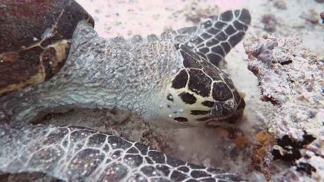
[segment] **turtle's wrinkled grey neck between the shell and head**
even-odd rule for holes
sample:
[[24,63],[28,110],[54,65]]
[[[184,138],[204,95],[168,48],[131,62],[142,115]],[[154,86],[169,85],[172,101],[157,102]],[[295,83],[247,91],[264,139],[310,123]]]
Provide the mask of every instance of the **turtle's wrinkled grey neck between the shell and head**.
[[154,119],[167,84],[181,68],[180,57],[171,41],[104,39],[80,22],[59,73],[42,84],[0,98],[0,120],[28,122],[44,110],[75,107],[117,107]]

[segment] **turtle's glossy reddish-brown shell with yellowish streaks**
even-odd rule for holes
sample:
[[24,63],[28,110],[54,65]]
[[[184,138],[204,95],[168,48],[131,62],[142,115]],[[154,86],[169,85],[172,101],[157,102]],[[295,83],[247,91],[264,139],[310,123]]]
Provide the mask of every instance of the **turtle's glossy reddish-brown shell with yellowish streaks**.
[[0,3],[0,97],[52,78],[64,65],[79,21],[94,27],[73,0]]

